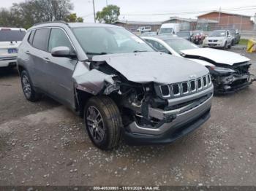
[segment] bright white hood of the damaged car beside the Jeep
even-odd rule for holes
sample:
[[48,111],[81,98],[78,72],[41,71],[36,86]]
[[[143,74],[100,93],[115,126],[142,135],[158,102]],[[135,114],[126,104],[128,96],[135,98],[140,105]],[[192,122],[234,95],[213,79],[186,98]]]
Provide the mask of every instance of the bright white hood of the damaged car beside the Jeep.
[[243,55],[225,50],[217,50],[213,48],[197,48],[191,50],[181,50],[185,55],[198,56],[207,58],[215,63],[223,63],[232,66],[234,63],[243,63],[249,61]]

